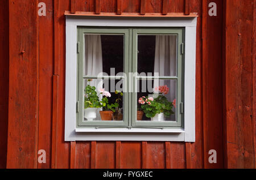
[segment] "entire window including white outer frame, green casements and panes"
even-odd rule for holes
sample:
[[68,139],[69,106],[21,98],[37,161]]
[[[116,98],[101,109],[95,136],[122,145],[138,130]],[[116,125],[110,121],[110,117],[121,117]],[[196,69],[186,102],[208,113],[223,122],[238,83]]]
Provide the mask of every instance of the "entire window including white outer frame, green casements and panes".
[[67,16],[65,140],[193,142],[196,18],[92,19]]

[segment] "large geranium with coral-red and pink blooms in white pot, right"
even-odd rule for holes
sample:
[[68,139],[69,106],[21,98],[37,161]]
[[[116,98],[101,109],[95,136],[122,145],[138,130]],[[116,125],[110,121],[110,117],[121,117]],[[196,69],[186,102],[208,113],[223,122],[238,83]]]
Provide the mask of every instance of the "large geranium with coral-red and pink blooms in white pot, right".
[[148,96],[139,98],[139,101],[144,102],[141,105],[143,112],[146,117],[151,118],[151,121],[164,121],[164,117],[170,117],[171,114],[174,114],[172,111],[173,102],[169,102],[164,96],[168,92],[167,85],[159,86],[155,88],[155,93],[159,93],[156,98]]

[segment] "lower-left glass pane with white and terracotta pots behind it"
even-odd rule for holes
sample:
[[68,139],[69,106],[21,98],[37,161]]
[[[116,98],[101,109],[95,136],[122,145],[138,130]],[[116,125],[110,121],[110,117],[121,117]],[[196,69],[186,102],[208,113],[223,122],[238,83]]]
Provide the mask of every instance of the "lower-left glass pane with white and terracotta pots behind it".
[[123,121],[122,82],[84,79],[84,121]]

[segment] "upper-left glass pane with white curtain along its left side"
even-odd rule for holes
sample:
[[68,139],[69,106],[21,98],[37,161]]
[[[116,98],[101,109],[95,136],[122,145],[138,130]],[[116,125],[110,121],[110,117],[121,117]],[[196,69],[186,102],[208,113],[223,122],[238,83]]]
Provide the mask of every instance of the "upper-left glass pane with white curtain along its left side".
[[85,35],[84,75],[123,72],[123,35]]

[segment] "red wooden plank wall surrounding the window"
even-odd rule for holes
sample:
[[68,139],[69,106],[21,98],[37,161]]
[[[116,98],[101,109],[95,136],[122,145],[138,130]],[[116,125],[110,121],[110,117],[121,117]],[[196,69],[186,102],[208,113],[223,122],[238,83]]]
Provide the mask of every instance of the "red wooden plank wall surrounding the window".
[[[38,2],[46,16],[38,16]],[[208,15],[210,2],[217,16]],[[64,142],[65,10],[198,13],[195,143]],[[255,0],[10,0],[7,168],[255,168],[254,13]],[[46,164],[37,162],[39,149]]]

